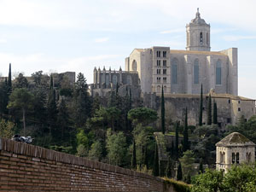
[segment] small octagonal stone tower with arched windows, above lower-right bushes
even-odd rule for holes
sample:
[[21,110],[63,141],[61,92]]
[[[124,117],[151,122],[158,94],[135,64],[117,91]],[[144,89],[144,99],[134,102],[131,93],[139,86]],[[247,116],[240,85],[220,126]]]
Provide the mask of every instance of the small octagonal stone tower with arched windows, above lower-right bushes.
[[216,169],[227,172],[232,165],[254,163],[255,144],[239,132],[216,143]]

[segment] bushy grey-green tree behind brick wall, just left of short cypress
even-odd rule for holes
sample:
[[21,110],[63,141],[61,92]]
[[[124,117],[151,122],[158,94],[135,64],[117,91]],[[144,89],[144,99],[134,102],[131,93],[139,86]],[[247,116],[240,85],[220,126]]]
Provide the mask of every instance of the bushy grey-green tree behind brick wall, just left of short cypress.
[[122,166],[125,164],[126,156],[126,138],[122,131],[114,133],[111,129],[107,131],[107,151],[108,162],[115,166]]

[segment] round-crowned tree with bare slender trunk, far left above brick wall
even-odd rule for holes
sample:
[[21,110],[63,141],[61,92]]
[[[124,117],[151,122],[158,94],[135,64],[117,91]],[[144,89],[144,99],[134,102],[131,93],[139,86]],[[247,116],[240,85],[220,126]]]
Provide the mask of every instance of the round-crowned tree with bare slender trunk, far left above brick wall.
[[22,111],[23,134],[26,136],[26,111],[32,108],[33,95],[25,88],[16,89],[9,96],[8,108],[17,108]]

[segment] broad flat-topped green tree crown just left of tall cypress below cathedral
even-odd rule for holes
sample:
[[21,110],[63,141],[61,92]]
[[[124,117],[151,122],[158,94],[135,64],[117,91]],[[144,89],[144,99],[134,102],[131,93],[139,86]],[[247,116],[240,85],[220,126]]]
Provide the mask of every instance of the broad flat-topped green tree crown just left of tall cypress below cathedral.
[[148,125],[157,118],[157,112],[150,108],[132,108],[128,113],[128,119],[132,120],[134,124]]

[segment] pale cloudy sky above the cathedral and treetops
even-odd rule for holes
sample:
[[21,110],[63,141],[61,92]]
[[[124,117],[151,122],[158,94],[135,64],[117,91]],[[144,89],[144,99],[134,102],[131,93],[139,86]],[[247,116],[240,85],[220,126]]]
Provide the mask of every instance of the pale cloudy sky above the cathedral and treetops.
[[255,0],[0,0],[0,73],[125,69],[135,48],[185,49],[185,26],[211,25],[212,50],[238,48],[239,95],[256,99]]

